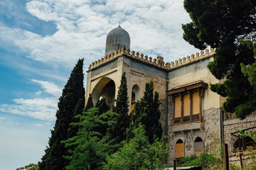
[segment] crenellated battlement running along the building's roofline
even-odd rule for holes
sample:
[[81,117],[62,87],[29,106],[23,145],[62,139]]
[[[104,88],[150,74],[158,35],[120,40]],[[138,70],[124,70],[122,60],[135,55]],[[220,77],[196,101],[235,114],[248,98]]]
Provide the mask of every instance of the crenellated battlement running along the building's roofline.
[[97,60],[95,62],[92,62],[90,64],[90,69],[95,69],[97,67],[100,67],[102,64],[105,64],[107,62],[111,62],[112,60],[117,59],[118,57],[121,57],[122,55],[125,55],[127,57],[131,57],[134,60],[139,60],[141,62],[144,62],[149,65],[153,65],[155,67],[159,67],[161,69],[171,70],[176,69],[178,67],[182,67],[187,64],[191,64],[193,62],[203,60],[205,58],[211,57],[215,54],[215,51],[213,48],[210,48],[210,51],[206,49],[205,51],[201,51],[200,54],[196,52],[196,55],[191,55],[187,57],[183,57],[183,59],[175,60],[175,62],[166,62],[164,63],[164,57],[158,56],[156,59],[152,59],[152,57],[148,57],[147,55],[139,55],[139,52],[130,51],[129,49],[125,49],[125,47],[122,47],[122,49],[119,49],[118,51],[112,52],[110,55],[106,55],[104,58],[101,58],[100,60]]

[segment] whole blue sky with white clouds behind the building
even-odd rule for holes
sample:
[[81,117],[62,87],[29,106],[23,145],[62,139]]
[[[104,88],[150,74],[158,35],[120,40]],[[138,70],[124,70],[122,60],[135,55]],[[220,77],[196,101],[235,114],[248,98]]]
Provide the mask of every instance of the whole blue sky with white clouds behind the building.
[[41,160],[73,67],[85,59],[86,85],[119,22],[140,54],[173,62],[199,52],[182,38],[191,19],[181,0],[0,1],[0,169]]

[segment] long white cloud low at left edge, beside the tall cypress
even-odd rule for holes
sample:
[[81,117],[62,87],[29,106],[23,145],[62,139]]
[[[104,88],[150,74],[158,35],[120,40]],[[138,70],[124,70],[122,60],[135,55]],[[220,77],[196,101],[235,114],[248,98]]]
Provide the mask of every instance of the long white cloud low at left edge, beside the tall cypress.
[[1,104],[0,111],[46,121],[55,120],[58,98],[17,98],[13,101],[15,104]]

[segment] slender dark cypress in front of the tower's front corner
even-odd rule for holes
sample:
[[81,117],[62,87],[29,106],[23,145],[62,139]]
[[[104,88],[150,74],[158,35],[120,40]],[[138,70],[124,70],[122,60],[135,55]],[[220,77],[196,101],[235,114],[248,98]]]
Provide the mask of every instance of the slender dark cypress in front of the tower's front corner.
[[113,111],[117,113],[117,116],[112,118],[117,123],[114,124],[109,130],[108,133],[111,139],[114,139],[116,144],[119,144],[127,138],[127,129],[129,128],[129,101],[127,94],[127,79],[125,77],[125,72],[122,74],[121,84],[118,88],[116,106]]

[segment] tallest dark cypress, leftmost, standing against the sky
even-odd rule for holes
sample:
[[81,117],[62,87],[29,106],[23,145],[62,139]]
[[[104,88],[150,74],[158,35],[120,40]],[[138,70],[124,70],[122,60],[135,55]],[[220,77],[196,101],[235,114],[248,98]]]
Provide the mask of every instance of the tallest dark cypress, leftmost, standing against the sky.
[[43,155],[42,161],[38,164],[39,169],[64,169],[69,164],[68,160],[63,157],[68,155],[68,149],[60,141],[67,140],[70,137],[68,134],[71,134],[69,129],[70,123],[75,117],[75,106],[80,98],[83,101],[85,100],[82,66],[83,59],[78,60],[63,89],[63,94],[59,98],[55,126],[51,130],[51,137],[48,141],[49,147],[46,148],[46,154]]

